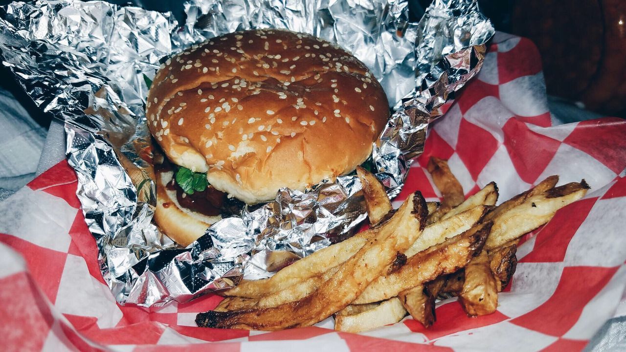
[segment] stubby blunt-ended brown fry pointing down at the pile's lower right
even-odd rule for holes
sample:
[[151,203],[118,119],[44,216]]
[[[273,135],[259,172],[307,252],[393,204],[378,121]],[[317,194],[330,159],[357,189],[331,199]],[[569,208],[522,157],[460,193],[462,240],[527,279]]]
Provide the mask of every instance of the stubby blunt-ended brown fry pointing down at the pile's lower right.
[[481,251],[465,267],[459,301],[468,316],[491,314],[498,308],[498,288],[486,250]]

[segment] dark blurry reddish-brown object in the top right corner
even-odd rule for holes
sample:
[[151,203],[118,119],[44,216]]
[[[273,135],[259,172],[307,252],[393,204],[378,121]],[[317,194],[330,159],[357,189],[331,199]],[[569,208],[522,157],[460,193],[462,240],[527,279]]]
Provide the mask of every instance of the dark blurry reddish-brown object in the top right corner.
[[510,32],[538,46],[548,94],[626,115],[626,1],[517,0]]

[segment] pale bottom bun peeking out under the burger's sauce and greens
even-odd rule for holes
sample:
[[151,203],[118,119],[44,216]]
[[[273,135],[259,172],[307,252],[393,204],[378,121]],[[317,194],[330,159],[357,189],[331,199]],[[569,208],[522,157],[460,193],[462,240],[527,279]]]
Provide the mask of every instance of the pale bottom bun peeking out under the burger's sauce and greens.
[[[208,216],[183,208],[178,203],[176,191],[165,187],[172,182],[174,172],[156,172],[156,225],[174,242],[187,247],[204,234],[207,228],[222,219],[220,215]],[[165,206],[163,204],[166,204]]]

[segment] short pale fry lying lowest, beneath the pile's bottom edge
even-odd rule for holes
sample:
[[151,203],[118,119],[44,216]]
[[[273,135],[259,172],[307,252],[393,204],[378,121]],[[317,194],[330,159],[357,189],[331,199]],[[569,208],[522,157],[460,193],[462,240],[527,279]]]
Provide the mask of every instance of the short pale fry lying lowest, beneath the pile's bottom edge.
[[335,316],[335,330],[348,333],[360,333],[394,324],[406,316],[406,309],[397,297],[376,304],[375,308],[357,314]]

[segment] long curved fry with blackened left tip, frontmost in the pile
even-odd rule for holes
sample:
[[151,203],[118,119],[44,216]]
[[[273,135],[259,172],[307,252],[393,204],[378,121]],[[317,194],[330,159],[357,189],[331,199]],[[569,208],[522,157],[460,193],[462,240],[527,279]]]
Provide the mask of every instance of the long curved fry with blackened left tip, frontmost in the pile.
[[198,326],[277,330],[310,326],[345,308],[417,239],[426,223],[426,202],[416,192],[404,201],[377,236],[309,296],[273,308],[200,313]]

